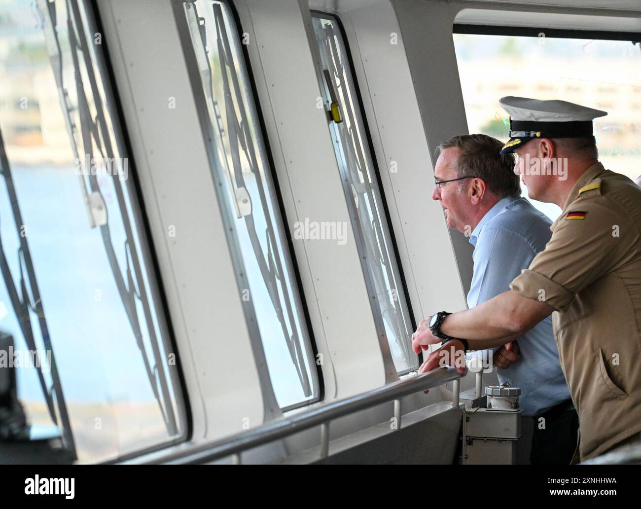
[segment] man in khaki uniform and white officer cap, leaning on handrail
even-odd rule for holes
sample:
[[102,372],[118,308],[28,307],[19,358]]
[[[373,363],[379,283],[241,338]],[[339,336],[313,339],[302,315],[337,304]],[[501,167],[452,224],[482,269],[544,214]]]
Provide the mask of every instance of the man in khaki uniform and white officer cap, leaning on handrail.
[[[510,291],[422,321],[413,347],[443,339],[442,349],[452,354],[499,346],[554,312],[561,365],[579,414],[578,453],[594,458],[638,441],[641,432],[641,189],[597,161],[592,119],[604,112],[522,97],[501,104],[511,114],[503,151],[519,156],[515,171],[529,197],[557,203],[562,213],[545,250]],[[565,169],[557,160],[556,174],[528,172],[535,160],[541,171],[554,169],[553,158],[567,158]],[[441,358],[432,353],[422,371]]]

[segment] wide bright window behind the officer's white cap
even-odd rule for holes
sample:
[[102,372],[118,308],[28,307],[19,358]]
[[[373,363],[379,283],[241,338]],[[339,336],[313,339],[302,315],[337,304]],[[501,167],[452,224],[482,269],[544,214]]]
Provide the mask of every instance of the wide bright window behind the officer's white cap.
[[[603,165],[633,180],[641,175],[641,105],[637,100],[641,47],[631,42],[632,36],[604,40],[597,38],[598,33],[577,35],[575,31],[570,38],[563,31],[525,29],[523,36],[515,37],[501,35],[501,28],[492,34],[469,33],[475,30],[454,26],[455,32],[465,32],[454,33],[454,46],[470,133],[507,140],[509,119],[499,106],[502,96],[583,104],[608,112],[594,121]],[[634,40],[638,39],[637,34]],[[481,89],[479,83],[485,86]],[[533,204],[551,219],[561,212],[554,204]]]

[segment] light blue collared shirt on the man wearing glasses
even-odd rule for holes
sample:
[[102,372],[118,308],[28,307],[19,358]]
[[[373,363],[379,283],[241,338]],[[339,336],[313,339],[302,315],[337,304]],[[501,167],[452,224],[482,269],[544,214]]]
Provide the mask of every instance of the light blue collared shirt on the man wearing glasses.
[[[467,305],[472,308],[509,290],[512,280],[545,249],[552,235],[551,224],[522,197],[503,198],[490,208],[470,235],[474,276]],[[554,341],[552,318],[539,322],[517,341],[521,358],[508,368],[499,369],[498,376],[499,381],[521,388],[519,402],[523,415],[539,415],[570,399]]]

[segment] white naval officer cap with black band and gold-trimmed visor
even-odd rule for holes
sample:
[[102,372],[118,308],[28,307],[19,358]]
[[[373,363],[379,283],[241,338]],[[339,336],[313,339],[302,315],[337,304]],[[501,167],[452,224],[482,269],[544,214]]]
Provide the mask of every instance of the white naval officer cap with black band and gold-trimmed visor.
[[501,97],[499,104],[510,115],[510,139],[501,149],[509,154],[535,138],[592,136],[592,119],[607,112],[567,101],[540,101],[528,97]]

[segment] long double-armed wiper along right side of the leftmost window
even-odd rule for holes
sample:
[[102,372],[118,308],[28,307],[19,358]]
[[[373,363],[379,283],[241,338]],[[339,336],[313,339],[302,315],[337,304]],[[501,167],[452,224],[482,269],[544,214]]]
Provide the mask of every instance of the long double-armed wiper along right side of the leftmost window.
[[[72,106],[69,104],[69,94],[63,83],[62,72],[62,51],[60,46],[60,38],[58,30],[56,29],[56,6],[54,1],[38,0],[43,9],[47,12],[47,19],[44,20],[44,31],[47,39],[47,46],[49,47],[49,56],[54,71],[54,78],[58,86],[58,93],[60,95],[60,103],[62,105],[62,112],[67,124],[67,131],[71,140],[73,155],[76,161],[83,159],[79,158],[78,145],[76,144],[76,124],[72,118]],[[75,27],[75,28],[74,28]],[[80,120],[80,134],[82,139],[82,146],[84,149],[84,158],[92,160],[94,154],[93,144],[96,144],[97,151],[106,160],[115,162],[117,159],[114,157],[112,147],[112,140],[110,138],[108,122],[106,115],[103,111],[103,101],[99,92],[96,81],[96,76],[92,72],[94,66],[92,65],[91,56],[89,54],[87,36],[82,22],[82,17],[79,11],[77,0],[67,1],[67,29],[69,35],[69,45],[71,46],[71,56],[74,65],[74,76],[76,81],[76,96],[78,97],[78,115]],[[78,36],[76,37],[76,31]],[[92,118],[90,104],[85,94],[85,83],[83,82],[83,75],[80,69],[80,61],[78,52],[82,54],[83,63],[87,70],[87,77],[91,89],[91,95],[94,99],[93,104],[96,109],[96,118]],[[85,161],[86,162],[86,161]],[[82,172],[81,172],[82,173]],[[87,192],[87,185],[85,177],[80,175],[81,187],[83,187],[83,195],[85,196],[85,203],[87,204],[88,213],[90,216],[90,226],[92,228],[99,226],[103,238],[104,249],[108,258],[109,265],[112,269],[113,278],[118,288],[121,297],[122,305],[127,314],[131,330],[136,338],[140,355],[144,363],[144,368],[149,378],[151,389],[153,390],[154,397],[158,401],[160,413],[162,415],[167,431],[170,435],[178,433],[178,426],[176,424],[176,416],[174,415],[174,408],[172,404],[171,391],[165,377],[163,370],[163,355],[158,347],[158,340],[156,338],[153,313],[149,306],[147,299],[147,291],[144,285],[144,274],[140,260],[138,260],[138,252],[136,249],[133,228],[129,219],[128,204],[124,195],[124,190],[119,184],[119,176],[112,172],[113,188],[119,206],[119,212],[122,217],[122,224],[125,229],[125,242],[124,242],[124,256],[126,259],[126,278],[122,275],[121,267],[118,262],[115,249],[113,247],[110,227],[106,221],[106,205],[98,184],[97,176],[88,174],[87,180],[89,183],[90,193]],[[101,213],[101,210],[103,211]],[[140,319],[138,317],[136,301],[140,301],[144,319],[146,321],[146,328],[149,334],[149,343],[153,352],[153,365],[151,364],[144,344],[144,338],[140,329]]]

